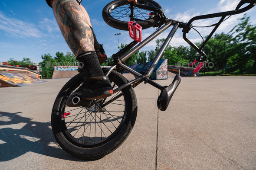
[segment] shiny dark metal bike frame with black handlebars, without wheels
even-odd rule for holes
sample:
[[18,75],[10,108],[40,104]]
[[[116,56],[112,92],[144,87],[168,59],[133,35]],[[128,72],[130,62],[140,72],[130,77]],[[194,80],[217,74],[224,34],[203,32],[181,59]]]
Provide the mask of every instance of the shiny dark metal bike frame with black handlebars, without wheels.
[[[243,1],[243,0],[242,0]],[[241,1],[241,2],[242,2]],[[113,61],[114,64],[111,68],[109,68],[109,70],[107,71],[107,73],[105,74],[105,76],[108,76],[110,74],[110,72],[115,69],[115,68],[122,68],[125,71],[128,71],[129,73],[133,74],[134,76],[138,77],[135,78],[134,80],[129,81],[128,83],[118,87],[117,89],[115,89],[113,91],[113,93],[117,93],[119,90],[128,87],[130,85],[133,85],[133,87],[138,86],[138,84],[140,84],[142,81],[144,81],[144,83],[149,83],[152,86],[158,88],[159,90],[163,89],[163,86],[161,86],[160,84],[154,82],[153,80],[150,80],[149,77],[152,74],[154,68],[156,67],[158,61],[160,60],[161,56],[164,53],[164,50],[167,48],[167,46],[169,45],[172,37],[174,36],[175,32],[177,31],[178,28],[183,28],[182,32],[183,33],[183,38],[184,40],[192,47],[194,48],[199,54],[200,56],[203,57],[203,60],[201,60],[200,62],[206,62],[207,58],[205,53],[202,51],[202,48],[204,47],[204,45],[208,42],[208,40],[210,39],[210,37],[213,35],[213,33],[216,31],[216,29],[218,28],[218,26],[220,26],[220,23],[223,22],[223,20],[225,19],[226,16],[230,16],[230,15],[234,15],[234,14],[239,14],[239,13],[243,13],[249,9],[251,9],[254,6],[253,3],[250,3],[248,6],[244,7],[243,9],[240,10],[234,10],[234,11],[228,11],[228,12],[222,12],[222,13],[214,13],[214,14],[208,14],[208,15],[203,15],[203,16],[196,16],[192,19],[190,19],[190,21],[188,23],[184,23],[184,22],[180,22],[180,21],[176,21],[176,20],[172,20],[172,19],[166,19],[165,20],[165,25],[162,26],[161,28],[159,28],[156,32],[154,32],[153,34],[151,34],[148,38],[144,39],[140,44],[138,44],[137,46],[135,46],[137,44],[137,42],[131,42],[129,45],[127,45],[125,48],[123,48],[121,51],[119,51],[118,53],[116,53],[115,55],[113,55]],[[147,6],[144,7],[144,9],[146,9]],[[158,12],[158,11],[157,11]],[[208,18],[214,18],[214,17],[221,17],[220,21],[217,24],[213,24],[212,26],[215,26],[214,29],[212,30],[212,32],[210,33],[210,35],[207,37],[207,39],[203,42],[203,44],[201,45],[200,48],[198,48],[193,42],[190,42],[190,40],[186,37],[186,34],[190,31],[190,29],[192,28],[192,22],[194,20],[198,20],[198,19],[208,19]],[[130,67],[126,66],[125,64],[122,64],[125,60],[127,60],[129,57],[131,57],[131,55],[135,54],[135,52],[137,52],[139,49],[141,49],[142,47],[144,47],[146,44],[148,44],[149,42],[151,42],[151,40],[153,40],[155,37],[157,37],[158,35],[160,35],[162,32],[164,32],[167,28],[169,28],[170,26],[173,26],[173,28],[171,29],[171,32],[169,33],[169,35],[167,36],[166,40],[164,41],[163,45],[161,46],[160,50],[158,51],[157,55],[154,57],[151,65],[149,66],[148,70],[145,72],[144,75],[138,73],[137,71],[131,69]],[[135,47],[134,47],[135,46]],[[134,47],[134,48],[132,48]],[[132,49],[131,49],[132,48]],[[130,50],[131,49],[131,50]],[[130,51],[129,51],[130,50]],[[119,58],[119,56],[121,56]],[[117,96],[118,98],[118,96]],[[115,98],[114,98],[115,99]]]

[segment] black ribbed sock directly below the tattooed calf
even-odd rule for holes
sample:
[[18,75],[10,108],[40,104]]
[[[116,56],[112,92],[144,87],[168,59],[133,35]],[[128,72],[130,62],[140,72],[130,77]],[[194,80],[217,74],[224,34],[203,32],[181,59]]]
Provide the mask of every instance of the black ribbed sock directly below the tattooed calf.
[[95,51],[86,51],[84,54],[77,56],[76,58],[80,63],[80,66],[85,72],[85,77],[99,77],[105,74],[100,67],[98,57]]

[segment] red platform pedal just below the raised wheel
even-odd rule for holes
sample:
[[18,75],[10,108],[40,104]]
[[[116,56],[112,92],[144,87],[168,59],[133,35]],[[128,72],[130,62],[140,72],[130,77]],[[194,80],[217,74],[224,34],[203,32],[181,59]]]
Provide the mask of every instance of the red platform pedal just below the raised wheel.
[[129,21],[128,29],[129,29],[130,37],[134,39],[136,42],[141,42],[142,27],[138,25],[136,22]]

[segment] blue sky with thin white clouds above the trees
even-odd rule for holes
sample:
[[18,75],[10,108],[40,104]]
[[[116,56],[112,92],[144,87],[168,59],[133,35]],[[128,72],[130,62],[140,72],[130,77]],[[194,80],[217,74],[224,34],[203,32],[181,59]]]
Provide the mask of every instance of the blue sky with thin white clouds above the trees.
[[[42,61],[41,55],[50,54],[54,56],[57,51],[66,54],[71,51],[66,44],[54,18],[52,9],[45,0],[0,0],[0,61],[14,58],[21,61],[22,58],[31,58],[35,63]],[[163,8],[164,13],[170,19],[188,22],[190,18],[197,15],[217,13],[234,10],[240,0],[156,0]],[[130,43],[128,31],[121,31],[108,26],[102,19],[102,10],[109,3],[108,0],[83,0],[82,5],[89,13],[91,23],[98,39],[103,44],[108,56],[118,51],[118,37],[120,43]],[[243,13],[245,14],[245,13]],[[217,33],[229,32],[239,21],[243,14],[231,16],[221,24]],[[253,25],[256,24],[256,7],[249,10]],[[215,23],[216,19],[202,20],[194,23],[194,26],[207,26]],[[171,28],[170,28],[171,29]],[[168,30],[157,38],[166,38]],[[142,40],[155,31],[155,28],[142,30]],[[205,36],[209,29],[198,29]],[[181,29],[178,29],[170,45],[187,45],[182,38]],[[156,39],[157,39],[156,38]],[[200,36],[190,31],[188,38],[194,42],[200,42]],[[47,46],[47,47],[46,47]],[[153,40],[141,50],[155,48]]]

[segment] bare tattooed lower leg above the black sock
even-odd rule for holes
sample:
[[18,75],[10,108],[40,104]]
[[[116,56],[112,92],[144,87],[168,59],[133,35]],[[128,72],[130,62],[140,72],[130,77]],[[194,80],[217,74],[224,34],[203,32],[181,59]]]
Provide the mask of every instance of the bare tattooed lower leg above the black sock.
[[95,50],[92,30],[76,0],[55,0],[53,12],[62,35],[75,56]]

